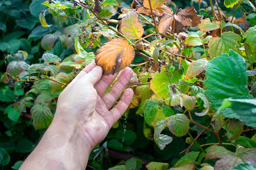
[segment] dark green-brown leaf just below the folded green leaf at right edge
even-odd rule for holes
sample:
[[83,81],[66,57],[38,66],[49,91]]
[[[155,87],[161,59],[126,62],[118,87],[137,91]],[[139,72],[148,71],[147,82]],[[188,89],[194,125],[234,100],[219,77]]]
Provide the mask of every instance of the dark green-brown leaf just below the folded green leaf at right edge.
[[223,128],[227,131],[226,136],[228,137],[228,142],[233,141],[240,137],[243,131],[243,124],[236,119],[229,119]]

